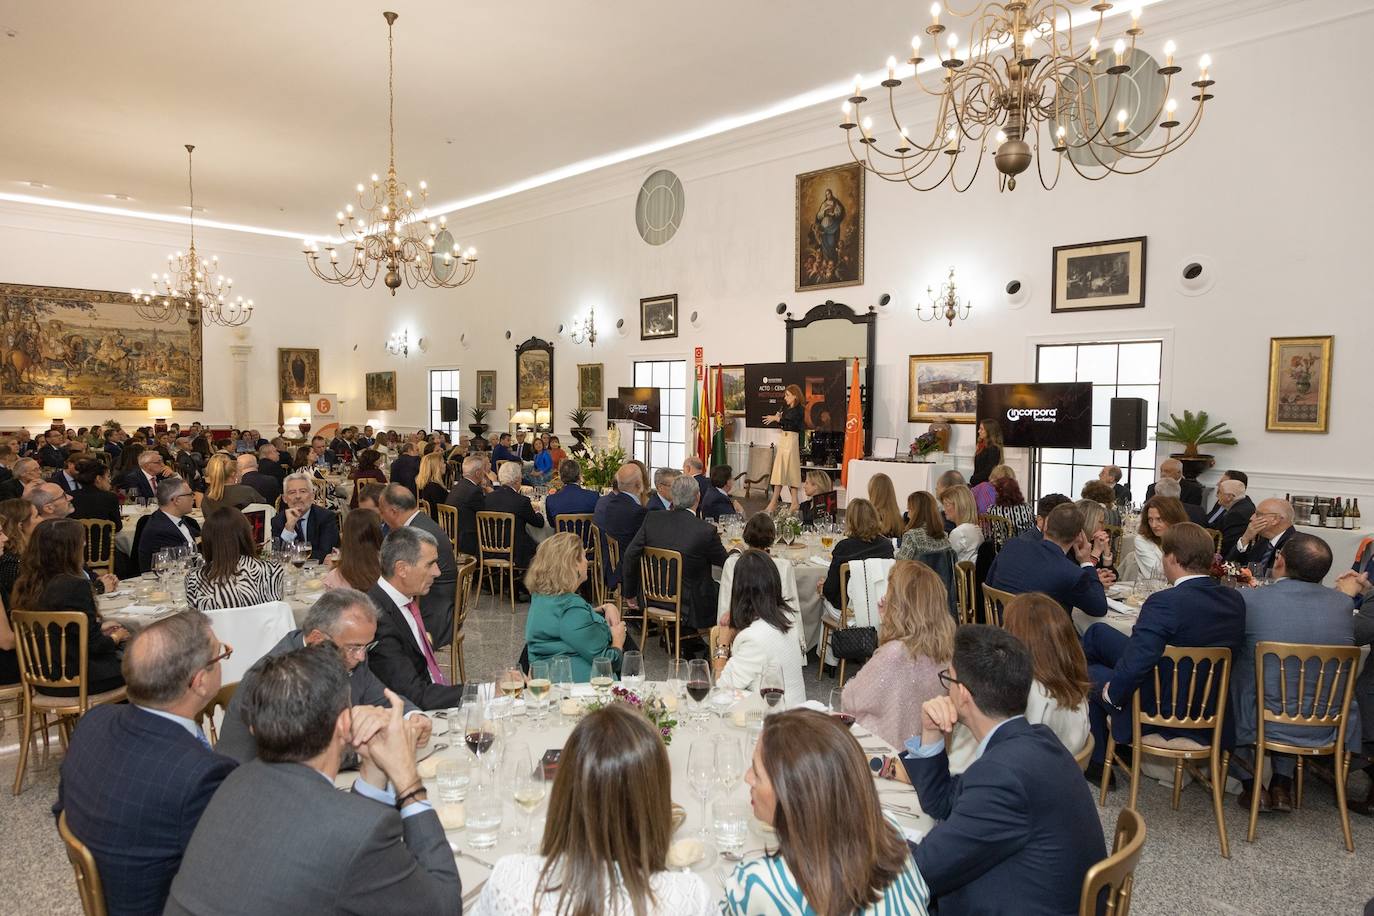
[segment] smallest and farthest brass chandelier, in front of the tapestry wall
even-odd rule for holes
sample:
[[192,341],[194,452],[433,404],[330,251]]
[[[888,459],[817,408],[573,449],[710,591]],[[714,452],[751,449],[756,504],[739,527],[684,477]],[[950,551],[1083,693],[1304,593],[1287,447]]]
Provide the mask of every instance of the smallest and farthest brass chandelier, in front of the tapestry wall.
[[195,146],[185,144],[185,181],[191,199],[191,247],[168,255],[168,269],[153,273],[153,288],[129,291],[137,313],[148,321],[202,320],[223,327],[247,324],[253,317],[253,299],[242,295],[229,298],[234,279],[220,273],[218,255],[201,258],[195,250],[195,181],[191,154]]

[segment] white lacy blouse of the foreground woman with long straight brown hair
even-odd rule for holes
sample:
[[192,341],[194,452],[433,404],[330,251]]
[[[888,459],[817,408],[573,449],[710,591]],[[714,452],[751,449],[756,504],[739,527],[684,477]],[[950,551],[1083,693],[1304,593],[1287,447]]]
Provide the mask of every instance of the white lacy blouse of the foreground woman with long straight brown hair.
[[[558,909],[556,894],[543,894],[537,906],[534,887],[544,868],[543,856],[503,856],[496,862],[482,895],[471,909],[473,916],[551,916]],[[649,916],[716,916],[720,912],[706,882],[692,872],[658,872],[649,879],[654,906]],[[616,908],[606,901],[605,913],[628,916],[635,912],[624,887],[616,889]]]

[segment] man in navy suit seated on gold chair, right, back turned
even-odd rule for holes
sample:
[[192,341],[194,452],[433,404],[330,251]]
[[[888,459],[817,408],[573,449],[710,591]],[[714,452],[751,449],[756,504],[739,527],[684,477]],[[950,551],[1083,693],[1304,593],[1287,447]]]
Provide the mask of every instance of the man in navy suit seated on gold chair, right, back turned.
[[[1245,599],[1210,575],[1212,536],[1191,522],[1179,522],[1164,533],[1164,577],[1173,588],[1156,592],[1140,607],[1131,636],[1107,623],[1094,623],[1083,634],[1092,694],[1088,721],[1092,725],[1092,764],[1088,779],[1102,776],[1107,750],[1107,717],[1117,744],[1131,743],[1131,698],[1142,691],[1142,706],[1154,706],[1150,680],[1165,645],[1194,645],[1231,650],[1231,663],[1245,643]],[[1167,673],[1172,677],[1172,672]],[[1231,677],[1235,677],[1232,670]],[[1186,672],[1179,672],[1179,692],[1184,692]],[[1161,709],[1172,709],[1162,696]],[[1209,703],[1210,709],[1210,703]],[[1221,725],[1221,743],[1235,744],[1232,709]],[[1147,732],[1157,731],[1146,726]]]

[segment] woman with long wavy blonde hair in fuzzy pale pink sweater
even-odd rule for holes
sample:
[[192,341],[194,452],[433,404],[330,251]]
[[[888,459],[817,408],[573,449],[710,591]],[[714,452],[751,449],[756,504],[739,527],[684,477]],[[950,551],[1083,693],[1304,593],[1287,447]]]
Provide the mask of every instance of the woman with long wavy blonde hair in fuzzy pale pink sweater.
[[878,651],[845,685],[844,711],[901,747],[921,733],[921,706],[945,692],[940,670],[954,656],[955,623],[944,582],[912,560],[893,564],[878,610]]

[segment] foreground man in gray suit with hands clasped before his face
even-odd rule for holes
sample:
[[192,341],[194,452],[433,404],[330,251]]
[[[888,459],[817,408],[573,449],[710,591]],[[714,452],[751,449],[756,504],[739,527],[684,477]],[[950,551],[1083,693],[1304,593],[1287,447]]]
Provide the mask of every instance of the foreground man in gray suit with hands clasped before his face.
[[[330,645],[268,658],[246,698],[258,758],[210,799],[164,913],[460,913],[401,699],[386,698],[350,707]],[[352,792],[334,788],[346,747],[363,761]]]

